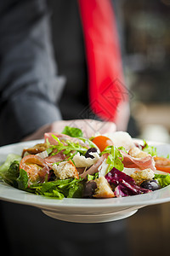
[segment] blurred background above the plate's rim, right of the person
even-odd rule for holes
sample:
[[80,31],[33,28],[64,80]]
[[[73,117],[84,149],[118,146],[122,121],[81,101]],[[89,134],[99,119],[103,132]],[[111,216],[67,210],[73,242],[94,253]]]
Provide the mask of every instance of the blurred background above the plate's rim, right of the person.
[[[170,1],[115,1],[138,137],[169,142]],[[132,131],[133,132],[133,131]]]

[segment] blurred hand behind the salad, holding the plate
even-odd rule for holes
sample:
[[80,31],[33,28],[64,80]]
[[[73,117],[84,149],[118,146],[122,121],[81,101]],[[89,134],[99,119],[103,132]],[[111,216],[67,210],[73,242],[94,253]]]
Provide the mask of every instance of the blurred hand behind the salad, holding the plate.
[[103,134],[116,131],[116,125],[113,122],[96,121],[94,119],[59,120],[52,124],[43,125],[31,135],[25,137],[22,141],[41,139],[45,132],[61,133],[66,125],[80,128],[84,137],[92,137],[97,132]]

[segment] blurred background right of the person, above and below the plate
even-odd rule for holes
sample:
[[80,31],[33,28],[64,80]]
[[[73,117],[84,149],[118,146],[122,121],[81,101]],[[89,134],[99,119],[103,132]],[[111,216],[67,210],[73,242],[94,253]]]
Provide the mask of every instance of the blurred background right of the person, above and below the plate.
[[[114,1],[133,137],[170,142],[170,0]],[[170,204],[127,218],[132,255],[169,254]]]

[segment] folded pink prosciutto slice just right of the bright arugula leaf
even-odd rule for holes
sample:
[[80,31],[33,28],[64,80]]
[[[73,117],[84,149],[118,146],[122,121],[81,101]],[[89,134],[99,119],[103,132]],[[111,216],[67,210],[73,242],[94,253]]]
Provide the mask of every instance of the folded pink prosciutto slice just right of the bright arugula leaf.
[[133,156],[121,151],[123,156],[123,165],[126,168],[139,168],[141,170],[150,168],[152,171],[156,170],[155,161],[151,155],[143,158],[134,158]]

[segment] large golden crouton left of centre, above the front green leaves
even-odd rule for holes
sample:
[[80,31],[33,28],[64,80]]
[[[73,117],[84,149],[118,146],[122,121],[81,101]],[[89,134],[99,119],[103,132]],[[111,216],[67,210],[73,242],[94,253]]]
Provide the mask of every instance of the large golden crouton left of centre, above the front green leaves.
[[79,178],[77,168],[71,160],[60,162],[59,165],[53,166],[54,174],[59,179],[65,179],[69,177]]

